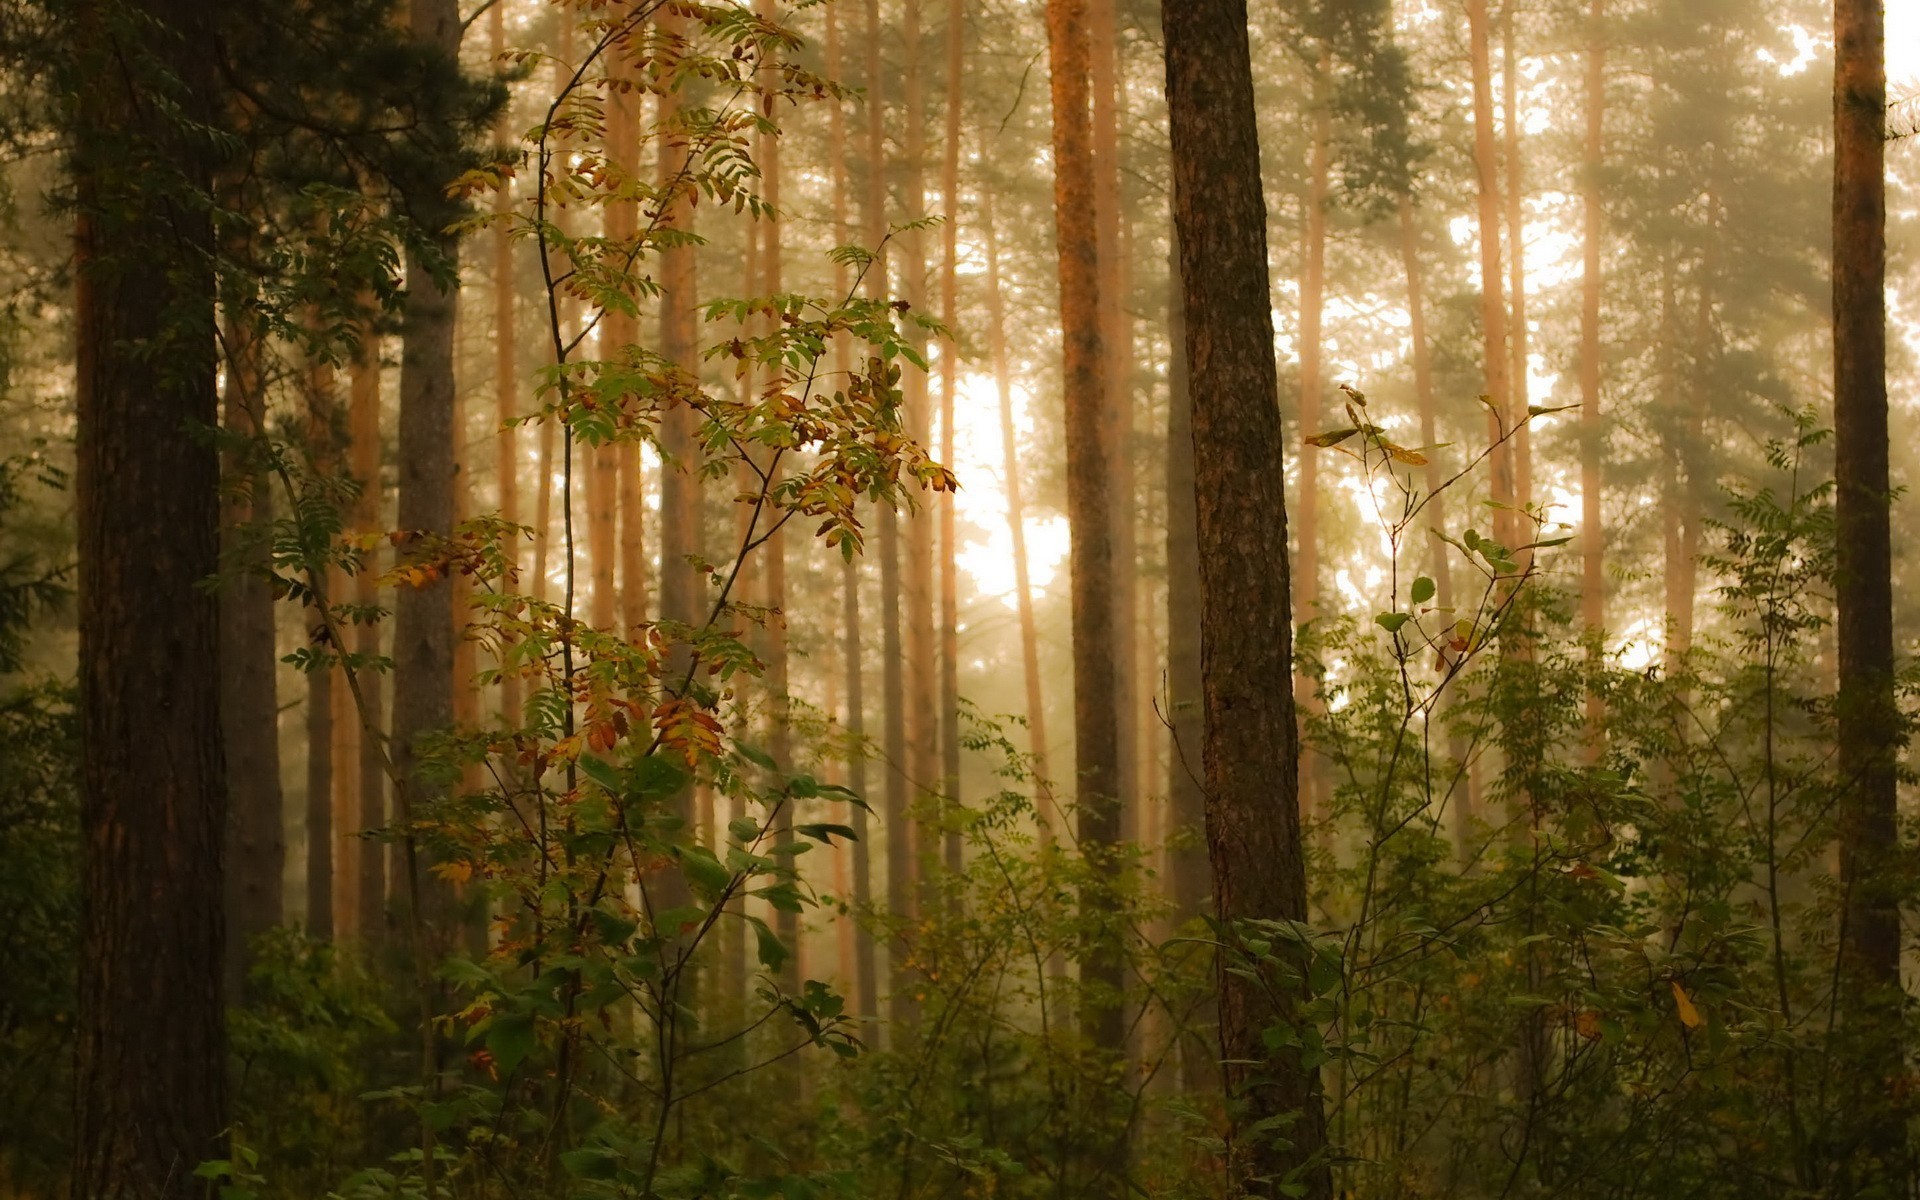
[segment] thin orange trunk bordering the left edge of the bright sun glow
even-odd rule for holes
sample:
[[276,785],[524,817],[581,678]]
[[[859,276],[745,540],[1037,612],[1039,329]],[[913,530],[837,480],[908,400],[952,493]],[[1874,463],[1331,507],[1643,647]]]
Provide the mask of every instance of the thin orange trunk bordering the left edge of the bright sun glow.
[[[941,200],[947,205],[941,257],[941,321],[960,328],[960,119],[966,71],[966,0],[947,0],[947,144],[941,159]],[[954,461],[954,413],[960,390],[960,353],[954,342],[941,348],[941,463]],[[954,493],[941,492],[941,795],[960,808],[960,547]],[[960,828],[948,824],[947,870],[960,872]]]

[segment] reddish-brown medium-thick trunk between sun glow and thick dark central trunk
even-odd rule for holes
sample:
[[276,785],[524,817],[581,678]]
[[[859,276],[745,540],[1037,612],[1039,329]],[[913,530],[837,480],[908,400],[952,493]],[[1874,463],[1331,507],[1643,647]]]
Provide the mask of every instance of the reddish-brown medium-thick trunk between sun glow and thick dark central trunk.
[[[1094,885],[1083,904],[1112,908],[1119,843],[1119,710],[1114,695],[1112,490],[1102,426],[1108,407],[1100,344],[1100,242],[1094,215],[1092,48],[1087,0],[1048,0],[1046,52],[1054,106],[1054,238],[1060,252],[1062,390],[1066,394],[1068,568],[1073,607],[1073,766],[1079,849]],[[1119,947],[1092,935],[1081,960],[1089,996],[1081,1031],[1096,1046],[1125,1046]]]

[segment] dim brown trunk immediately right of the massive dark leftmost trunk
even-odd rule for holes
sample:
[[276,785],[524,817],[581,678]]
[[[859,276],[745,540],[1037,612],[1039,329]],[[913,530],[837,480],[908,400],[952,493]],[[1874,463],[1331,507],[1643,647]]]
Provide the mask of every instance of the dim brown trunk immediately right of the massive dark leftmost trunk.
[[227,743],[227,995],[240,998],[252,943],[280,924],[286,833],[280,795],[280,703],[275,693],[271,478],[261,467],[267,397],[263,346],[246,315],[227,323],[227,434],[221,515],[221,737]]

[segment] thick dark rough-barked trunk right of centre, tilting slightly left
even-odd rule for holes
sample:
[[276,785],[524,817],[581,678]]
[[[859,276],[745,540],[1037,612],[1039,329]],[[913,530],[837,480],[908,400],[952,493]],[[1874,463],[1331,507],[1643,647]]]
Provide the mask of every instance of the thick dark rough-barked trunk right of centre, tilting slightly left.
[[[1192,372],[1208,856],[1227,945],[1238,947],[1238,922],[1308,918],[1294,697],[1275,685],[1292,674],[1292,618],[1267,209],[1246,2],[1187,0],[1160,19]],[[1284,973],[1248,977],[1236,958],[1221,954],[1217,975],[1231,1183],[1292,1179],[1323,1200],[1332,1179],[1317,1071],[1263,1037],[1300,996]],[[1258,1133],[1277,1117],[1283,1133]]]

